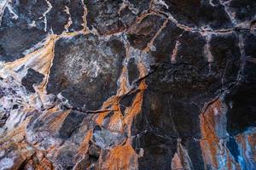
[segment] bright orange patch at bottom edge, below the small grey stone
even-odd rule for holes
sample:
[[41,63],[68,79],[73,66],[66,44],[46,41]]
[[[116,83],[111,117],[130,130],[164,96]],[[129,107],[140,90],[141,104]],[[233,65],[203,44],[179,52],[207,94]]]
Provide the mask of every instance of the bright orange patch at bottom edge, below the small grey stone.
[[137,169],[137,154],[131,144],[119,145],[108,152],[108,156],[100,158],[102,170],[135,170]]

